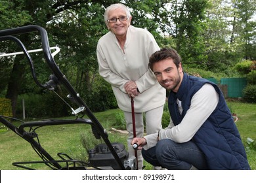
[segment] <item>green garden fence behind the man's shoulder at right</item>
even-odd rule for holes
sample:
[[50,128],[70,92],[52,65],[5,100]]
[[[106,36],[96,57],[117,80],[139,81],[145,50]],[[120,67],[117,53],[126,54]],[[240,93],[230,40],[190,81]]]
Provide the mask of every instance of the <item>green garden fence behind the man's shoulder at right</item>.
[[225,98],[239,98],[244,96],[243,90],[247,85],[246,78],[221,78],[219,81],[215,78],[206,79],[217,84]]

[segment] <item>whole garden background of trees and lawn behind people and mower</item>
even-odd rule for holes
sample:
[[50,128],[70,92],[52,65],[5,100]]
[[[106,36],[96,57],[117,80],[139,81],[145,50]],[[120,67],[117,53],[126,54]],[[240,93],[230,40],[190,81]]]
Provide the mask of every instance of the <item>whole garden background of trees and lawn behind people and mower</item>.
[[[108,33],[103,19],[104,10],[119,2],[0,1],[0,31],[34,24],[44,27],[49,44],[57,45],[61,50],[54,56],[54,61],[64,73],[62,78],[68,78],[79,92],[79,97],[108,131],[110,142],[121,142],[127,147],[123,114],[117,108],[110,84],[98,74],[96,61],[98,39]],[[217,81],[223,78],[242,78],[245,81],[241,94],[238,97],[227,95],[226,102],[234,114],[234,123],[240,131],[249,165],[255,170],[256,29],[255,6],[251,6],[255,5],[255,0],[123,0],[121,3],[131,9],[132,25],[150,31],[161,48],[171,47],[179,52],[182,67],[189,75]],[[37,32],[15,36],[28,50],[42,46]],[[76,105],[70,102],[72,97],[67,97],[70,93],[65,87],[58,85],[54,90],[45,90],[35,84],[31,73],[33,69],[39,83],[45,84],[49,75],[53,76],[42,52],[30,54],[33,69],[30,67],[32,62],[28,64],[28,59],[22,54],[2,56],[20,50],[14,42],[1,39],[0,115],[9,116],[7,119],[15,126],[46,118],[74,119],[75,116],[71,115],[74,111],[70,109]],[[89,116],[85,111],[85,116],[79,117]],[[168,122],[169,112],[165,107],[163,127]],[[104,142],[95,139],[90,125],[86,124],[43,126],[37,128],[36,133],[39,144],[54,158],[63,152],[74,159],[87,161],[88,150]],[[0,154],[1,170],[20,169],[12,165],[17,161],[41,161],[28,142],[1,123]],[[152,169],[148,163],[144,165],[145,169]],[[49,169],[42,163],[27,163],[26,167]]]

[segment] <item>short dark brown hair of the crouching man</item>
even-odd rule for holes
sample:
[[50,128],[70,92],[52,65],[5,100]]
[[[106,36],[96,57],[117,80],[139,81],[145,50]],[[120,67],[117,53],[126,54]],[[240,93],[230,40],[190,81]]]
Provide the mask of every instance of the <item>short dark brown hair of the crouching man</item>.
[[161,50],[154,52],[154,54],[150,56],[148,67],[152,70],[154,63],[169,58],[173,59],[173,63],[179,68],[181,56],[173,48],[161,48]]

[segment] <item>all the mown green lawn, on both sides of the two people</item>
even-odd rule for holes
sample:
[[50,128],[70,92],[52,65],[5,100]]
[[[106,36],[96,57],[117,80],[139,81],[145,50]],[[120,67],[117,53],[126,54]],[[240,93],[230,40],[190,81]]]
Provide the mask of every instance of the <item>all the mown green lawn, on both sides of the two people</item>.
[[[251,169],[255,170],[256,148],[255,146],[249,146],[246,139],[249,137],[256,141],[256,104],[228,101],[228,106],[232,108],[232,112],[238,115],[236,125],[244,142]],[[110,142],[121,142],[127,146],[127,135],[111,130],[111,127],[115,124],[116,112],[119,111],[119,109],[115,109],[96,112],[95,116],[104,129],[108,131]],[[18,137],[13,131],[3,129],[1,128],[0,131],[1,170],[21,169],[12,165],[12,162],[16,161],[41,161],[28,142]],[[39,134],[41,146],[56,159],[59,159],[56,156],[58,152],[64,152],[74,159],[87,159],[87,150],[84,146],[93,148],[93,141],[96,141],[92,138],[91,126],[85,124],[41,127],[36,132]],[[85,139],[85,142],[81,141],[81,137]],[[146,165],[145,169],[152,169],[150,164],[144,162],[144,165]],[[49,169],[43,164],[30,164],[27,166],[33,169]]]

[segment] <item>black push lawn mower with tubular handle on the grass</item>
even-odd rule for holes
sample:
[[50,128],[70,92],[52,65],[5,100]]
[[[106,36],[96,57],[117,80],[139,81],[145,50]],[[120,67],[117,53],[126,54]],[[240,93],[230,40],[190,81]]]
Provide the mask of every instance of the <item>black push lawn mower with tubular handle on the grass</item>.
[[[29,51],[26,49],[22,41],[15,37],[15,35],[21,35],[25,33],[37,32],[41,37],[41,50],[45,60],[52,71],[49,76],[49,80],[45,84],[41,84],[37,80],[35,75],[35,69],[33,66],[33,60],[30,56]],[[110,142],[108,139],[107,131],[102,127],[100,122],[97,120],[93,112],[87,107],[83,99],[81,99],[79,93],[77,93],[73,86],[70,84],[66,76],[60,71],[59,67],[54,61],[54,54],[51,53],[51,48],[49,46],[49,39],[47,31],[38,25],[27,25],[24,27],[16,27],[13,29],[5,29],[0,31],[0,41],[13,41],[21,49],[22,54],[25,54],[30,64],[30,69],[32,72],[33,80],[35,84],[46,90],[51,90],[54,92],[56,87],[60,84],[66,88],[68,91],[68,99],[77,105],[77,109],[72,110],[72,114],[75,115],[74,120],[39,120],[34,122],[24,122],[21,125],[13,125],[11,123],[12,118],[8,116],[0,116],[0,122],[6,125],[14,133],[20,136],[25,141],[32,145],[37,155],[42,159],[42,161],[26,161],[26,162],[14,162],[12,165],[16,167],[21,167],[24,169],[32,169],[26,164],[33,163],[44,163],[51,169],[137,169],[137,159],[134,156],[129,157],[129,153],[125,150],[125,146],[119,142]],[[1,51],[1,50],[0,50]],[[57,50],[58,51],[58,50]],[[89,119],[78,118],[77,114],[86,114]],[[18,120],[18,119],[15,119]],[[79,159],[73,159],[68,154],[58,153],[59,159],[54,159],[51,154],[45,150],[39,143],[39,135],[36,133],[35,129],[38,127],[48,126],[48,125],[66,125],[66,124],[85,124],[91,125],[91,130],[96,139],[103,139],[104,144],[98,144],[94,149],[89,150],[89,161],[81,161]]]

